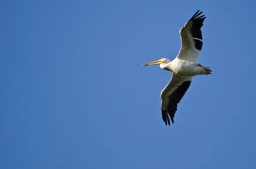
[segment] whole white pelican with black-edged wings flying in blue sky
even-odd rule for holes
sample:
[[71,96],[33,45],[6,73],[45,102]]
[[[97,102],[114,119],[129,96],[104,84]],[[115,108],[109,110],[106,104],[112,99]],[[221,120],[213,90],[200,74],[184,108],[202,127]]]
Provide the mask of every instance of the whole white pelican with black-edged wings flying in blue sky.
[[[180,29],[181,49],[174,60],[162,58],[160,60],[146,63],[142,66],[160,64],[162,69],[172,72],[172,79],[161,92],[161,109],[163,121],[170,126],[169,116],[174,123],[174,115],[177,104],[186,93],[192,81],[192,77],[201,74],[211,74],[209,67],[199,64],[199,56],[203,47],[201,27],[205,15],[199,16],[199,10]],[[169,116],[168,116],[169,115]]]

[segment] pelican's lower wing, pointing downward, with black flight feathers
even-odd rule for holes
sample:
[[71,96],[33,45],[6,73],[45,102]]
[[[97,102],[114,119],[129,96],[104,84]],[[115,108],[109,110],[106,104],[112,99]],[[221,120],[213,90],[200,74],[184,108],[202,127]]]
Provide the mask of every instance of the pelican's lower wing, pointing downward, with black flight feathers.
[[161,92],[162,117],[166,125],[168,122],[170,126],[169,116],[171,117],[172,123],[174,123],[173,118],[175,112],[177,111],[177,104],[180,103],[180,100],[189,89],[191,81],[192,77],[177,76],[172,74],[171,81]]

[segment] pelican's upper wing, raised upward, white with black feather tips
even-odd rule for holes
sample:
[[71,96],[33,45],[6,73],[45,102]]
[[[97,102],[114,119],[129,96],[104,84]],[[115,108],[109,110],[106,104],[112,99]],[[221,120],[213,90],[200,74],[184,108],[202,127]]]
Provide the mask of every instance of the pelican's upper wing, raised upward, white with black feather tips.
[[199,10],[191,19],[180,29],[181,48],[177,59],[188,60],[198,63],[199,56],[203,47],[203,36],[201,27],[204,25],[205,15],[199,16]]

